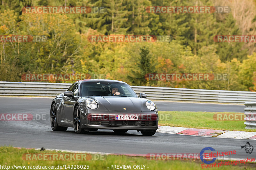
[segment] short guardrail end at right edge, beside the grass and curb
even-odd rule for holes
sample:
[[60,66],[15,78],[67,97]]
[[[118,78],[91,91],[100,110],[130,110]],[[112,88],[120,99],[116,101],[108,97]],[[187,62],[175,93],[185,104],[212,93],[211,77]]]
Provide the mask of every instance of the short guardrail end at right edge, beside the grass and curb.
[[256,102],[245,102],[244,103],[244,115],[246,116],[244,124],[246,125],[245,129],[256,129]]

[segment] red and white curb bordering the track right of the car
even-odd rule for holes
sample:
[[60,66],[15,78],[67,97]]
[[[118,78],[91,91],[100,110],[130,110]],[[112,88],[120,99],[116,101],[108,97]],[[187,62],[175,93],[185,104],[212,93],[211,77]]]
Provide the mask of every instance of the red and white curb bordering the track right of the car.
[[158,126],[156,132],[169,134],[182,134],[206,137],[223,137],[237,139],[256,139],[256,132],[229,131],[229,130],[211,130],[211,129],[194,129],[183,127]]

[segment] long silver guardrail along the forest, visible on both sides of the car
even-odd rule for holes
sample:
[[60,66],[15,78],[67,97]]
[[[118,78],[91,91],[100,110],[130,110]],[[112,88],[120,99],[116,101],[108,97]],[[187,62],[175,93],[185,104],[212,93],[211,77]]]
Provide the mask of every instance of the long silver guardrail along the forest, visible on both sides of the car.
[[[70,83],[1,82],[0,96],[57,96]],[[169,87],[131,86],[139,95],[144,92],[151,100],[240,103],[256,101],[256,92],[203,90]]]

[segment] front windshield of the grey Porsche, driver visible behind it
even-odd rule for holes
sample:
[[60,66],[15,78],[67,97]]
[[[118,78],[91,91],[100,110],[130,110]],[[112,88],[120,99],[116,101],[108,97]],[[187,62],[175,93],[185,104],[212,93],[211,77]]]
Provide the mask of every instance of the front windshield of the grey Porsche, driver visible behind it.
[[138,97],[129,85],[116,82],[84,82],[80,91],[82,96],[113,96],[111,90],[114,87],[120,92],[120,95],[115,96]]

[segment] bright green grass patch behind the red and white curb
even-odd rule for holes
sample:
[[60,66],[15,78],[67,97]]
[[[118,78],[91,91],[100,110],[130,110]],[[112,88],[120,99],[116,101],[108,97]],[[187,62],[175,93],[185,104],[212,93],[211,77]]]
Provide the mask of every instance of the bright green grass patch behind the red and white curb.
[[[234,112],[216,112],[229,114]],[[256,132],[256,129],[244,129],[245,121],[216,121],[213,119],[214,112],[178,112],[168,111],[159,112],[159,125],[163,126],[177,126],[186,128],[198,128],[198,129],[215,129],[215,130],[237,130]],[[171,120],[165,118],[163,115],[172,115]],[[237,113],[238,114],[238,113]],[[239,113],[242,114],[242,113]],[[162,115],[162,116],[161,116]],[[160,119],[161,117],[162,119]],[[163,120],[164,119],[164,120]]]

